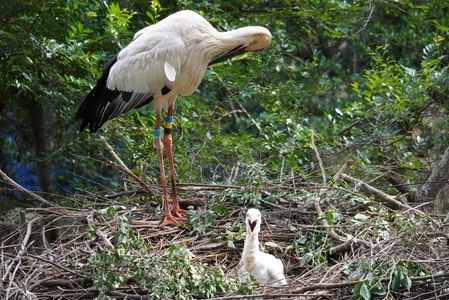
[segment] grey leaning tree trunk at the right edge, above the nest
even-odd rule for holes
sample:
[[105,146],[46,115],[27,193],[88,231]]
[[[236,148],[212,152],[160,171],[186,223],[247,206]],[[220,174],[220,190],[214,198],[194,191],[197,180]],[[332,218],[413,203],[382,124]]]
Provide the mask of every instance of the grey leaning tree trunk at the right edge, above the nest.
[[433,201],[440,191],[449,183],[449,147],[444,151],[443,157],[432,170],[429,178],[416,192],[416,202]]

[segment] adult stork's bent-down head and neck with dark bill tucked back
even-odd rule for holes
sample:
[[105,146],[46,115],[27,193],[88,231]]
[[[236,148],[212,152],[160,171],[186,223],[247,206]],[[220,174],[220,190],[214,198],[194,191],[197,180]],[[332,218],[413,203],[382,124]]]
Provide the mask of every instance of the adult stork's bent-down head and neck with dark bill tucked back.
[[221,47],[227,47],[229,45],[229,48],[227,49],[228,51],[215,57],[209,65],[221,62],[244,52],[265,50],[271,44],[271,32],[261,26],[242,27],[228,32],[220,32],[219,35],[218,41],[221,44]]

